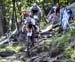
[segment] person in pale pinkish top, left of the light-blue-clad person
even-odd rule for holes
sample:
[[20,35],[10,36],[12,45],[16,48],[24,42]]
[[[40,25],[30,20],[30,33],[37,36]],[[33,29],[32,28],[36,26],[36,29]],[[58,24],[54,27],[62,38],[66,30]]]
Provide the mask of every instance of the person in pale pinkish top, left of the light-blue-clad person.
[[56,24],[60,20],[60,7],[54,7],[51,14],[48,16],[48,22],[51,24]]

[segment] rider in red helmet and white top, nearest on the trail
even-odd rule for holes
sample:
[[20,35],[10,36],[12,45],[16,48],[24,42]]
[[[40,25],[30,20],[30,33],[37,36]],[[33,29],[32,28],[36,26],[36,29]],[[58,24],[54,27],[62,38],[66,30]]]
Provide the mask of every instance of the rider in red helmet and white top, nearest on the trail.
[[29,29],[32,28],[32,36],[31,36],[31,41],[32,41],[32,46],[34,46],[34,36],[35,36],[35,32],[37,31],[37,27],[36,27],[36,24],[35,24],[35,19],[32,18],[32,16],[28,13],[28,12],[25,12],[24,13],[24,26],[22,28],[22,31],[24,31],[24,28],[25,30],[27,30],[26,26],[29,27]]

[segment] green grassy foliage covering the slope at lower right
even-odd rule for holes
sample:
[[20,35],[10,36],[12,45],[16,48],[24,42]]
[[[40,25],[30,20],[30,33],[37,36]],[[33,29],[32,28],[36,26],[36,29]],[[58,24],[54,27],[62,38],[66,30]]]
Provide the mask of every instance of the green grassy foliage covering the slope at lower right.
[[[56,32],[55,32],[56,33]],[[52,43],[54,44],[54,51],[57,51],[58,48],[61,48],[64,50],[62,53],[61,59],[67,60],[68,62],[72,62],[72,60],[75,60],[75,45],[70,46],[69,42],[75,41],[75,22],[70,24],[70,29],[65,32],[60,37],[56,35],[54,39],[47,39],[44,42],[44,46],[47,47],[47,51],[50,50],[48,48],[49,45]]]

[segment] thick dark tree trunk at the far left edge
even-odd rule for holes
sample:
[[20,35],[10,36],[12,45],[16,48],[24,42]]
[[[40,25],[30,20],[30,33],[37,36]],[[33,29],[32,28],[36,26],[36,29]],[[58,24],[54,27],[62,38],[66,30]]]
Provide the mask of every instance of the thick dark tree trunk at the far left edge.
[[6,31],[5,5],[0,1],[0,36]]

